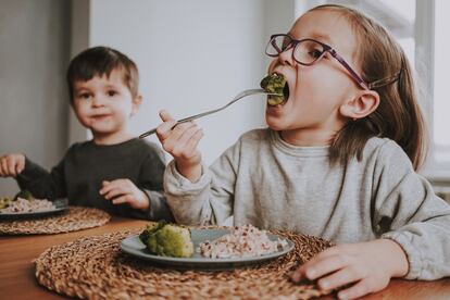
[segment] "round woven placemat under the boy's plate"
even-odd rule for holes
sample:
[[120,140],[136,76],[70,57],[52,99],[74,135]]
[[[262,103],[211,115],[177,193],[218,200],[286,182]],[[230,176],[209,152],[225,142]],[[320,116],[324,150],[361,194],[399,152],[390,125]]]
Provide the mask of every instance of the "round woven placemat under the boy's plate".
[[17,221],[1,221],[0,235],[51,235],[104,225],[111,216],[93,208],[70,207],[58,215]]

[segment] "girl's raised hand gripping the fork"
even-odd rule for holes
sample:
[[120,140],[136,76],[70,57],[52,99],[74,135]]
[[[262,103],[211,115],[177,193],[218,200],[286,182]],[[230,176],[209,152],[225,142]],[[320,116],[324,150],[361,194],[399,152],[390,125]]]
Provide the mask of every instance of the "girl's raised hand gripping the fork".
[[201,176],[201,153],[197,146],[203,130],[192,122],[176,125],[166,111],[161,111],[160,117],[163,123],[158,127],[157,135],[163,149],[174,157],[179,174],[190,182],[198,180]]

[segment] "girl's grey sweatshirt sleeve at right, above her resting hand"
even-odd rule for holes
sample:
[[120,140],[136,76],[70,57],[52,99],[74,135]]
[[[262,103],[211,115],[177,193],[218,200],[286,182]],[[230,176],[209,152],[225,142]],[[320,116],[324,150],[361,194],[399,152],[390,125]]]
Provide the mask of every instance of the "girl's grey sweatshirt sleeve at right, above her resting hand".
[[382,149],[379,158],[383,162],[375,171],[379,180],[374,185],[375,230],[382,238],[395,240],[407,253],[407,278],[449,276],[450,205],[413,171],[398,146]]

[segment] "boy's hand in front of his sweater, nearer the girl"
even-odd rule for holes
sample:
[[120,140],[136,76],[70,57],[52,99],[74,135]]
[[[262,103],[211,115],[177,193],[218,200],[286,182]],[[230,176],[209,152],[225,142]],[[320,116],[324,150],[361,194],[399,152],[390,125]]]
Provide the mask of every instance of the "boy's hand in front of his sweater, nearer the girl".
[[132,208],[146,211],[150,205],[147,195],[138,189],[129,179],[104,180],[100,189],[107,200],[112,200],[113,204],[128,203]]

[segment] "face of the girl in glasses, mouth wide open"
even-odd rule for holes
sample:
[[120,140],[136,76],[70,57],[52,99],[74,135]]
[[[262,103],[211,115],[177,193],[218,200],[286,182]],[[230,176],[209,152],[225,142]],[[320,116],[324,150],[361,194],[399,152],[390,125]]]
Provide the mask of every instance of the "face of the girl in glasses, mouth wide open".
[[[312,38],[333,47],[357,72],[357,40],[350,24],[339,13],[312,11],[301,16],[288,33],[300,40]],[[292,59],[292,48],[275,58],[268,74],[283,74],[289,85],[289,99],[266,109],[267,125],[275,130],[308,134],[312,143],[334,134],[343,125],[339,107],[359,90],[346,68],[329,53],[313,65],[301,65]]]

